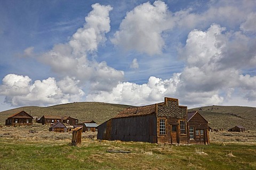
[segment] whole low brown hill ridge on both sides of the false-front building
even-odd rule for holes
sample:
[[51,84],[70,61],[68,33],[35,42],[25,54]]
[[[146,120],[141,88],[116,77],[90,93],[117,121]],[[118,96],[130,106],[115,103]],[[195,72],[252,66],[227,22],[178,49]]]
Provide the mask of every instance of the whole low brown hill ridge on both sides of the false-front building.
[[[79,122],[93,120],[101,124],[130,105],[110,104],[102,102],[74,102],[47,107],[24,106],[0,112],[0,123],[4,124],[7,117],[20,111],[25,111],[31,116],[43,115],[71,116],[78,118]],[[233,128],[242,125],[246,130],[256,130],[256,108],[247,106],[202,106],[190,108],[188,111],[198,111],[213,129]]]

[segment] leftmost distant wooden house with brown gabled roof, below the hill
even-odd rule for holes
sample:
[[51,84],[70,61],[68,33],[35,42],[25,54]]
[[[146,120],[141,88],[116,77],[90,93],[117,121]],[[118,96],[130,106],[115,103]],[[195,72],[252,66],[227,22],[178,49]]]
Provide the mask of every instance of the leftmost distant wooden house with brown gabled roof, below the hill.
[[5,120],[5,125],[31,125],[33,124],[33,117],[27,112],[21,111],[15,113]]

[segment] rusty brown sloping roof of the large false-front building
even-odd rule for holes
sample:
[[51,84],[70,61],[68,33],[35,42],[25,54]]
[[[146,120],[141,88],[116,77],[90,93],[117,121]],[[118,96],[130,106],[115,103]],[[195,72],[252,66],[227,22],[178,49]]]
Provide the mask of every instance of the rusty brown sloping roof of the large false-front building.
[[119,112],[116,117],[130,117],[130,116],[142,116],[142,115],[149,115],[156,113],[156,104],[148,105],[148,106],[141,106],[141,107],[129,107],[126,108],[124,111]]

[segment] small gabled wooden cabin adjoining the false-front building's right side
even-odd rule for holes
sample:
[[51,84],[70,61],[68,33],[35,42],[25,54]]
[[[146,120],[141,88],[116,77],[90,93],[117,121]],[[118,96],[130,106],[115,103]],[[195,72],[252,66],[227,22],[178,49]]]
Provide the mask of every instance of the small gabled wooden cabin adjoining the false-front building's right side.
[[210,144],[208,121],[198,111],[188,112],[190,144]]

